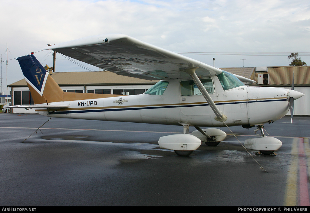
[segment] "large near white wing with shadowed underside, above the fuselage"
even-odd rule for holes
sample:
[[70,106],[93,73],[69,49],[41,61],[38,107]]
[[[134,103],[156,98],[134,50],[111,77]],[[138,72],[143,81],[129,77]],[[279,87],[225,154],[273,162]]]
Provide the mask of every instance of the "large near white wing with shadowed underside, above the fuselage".
[[189,69],[195,69],[199,77],[222,72],[200,61],[123,34],[81,38],[44,50],[49,49],[119,75],[145,80],[188,78],[188,73],[182,71]]

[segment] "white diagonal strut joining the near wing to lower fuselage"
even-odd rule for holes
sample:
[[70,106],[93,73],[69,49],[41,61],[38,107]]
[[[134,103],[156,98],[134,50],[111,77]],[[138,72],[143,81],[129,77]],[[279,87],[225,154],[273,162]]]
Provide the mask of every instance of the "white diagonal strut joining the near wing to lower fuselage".
[[206,101],[209,103],[211,109],[215,113],[216,117],[215,120],[217,121],[226,121],[227,116],[223,115],[221,111],[219,111],[219,108],[216,107],[214,101],[210,97],[209,93],[207,92],[206,88],[202,85],[200,79],[198,78],[197,74],[195,73],[196,68],[188,69],[185,72],[187,72],[192,78],[195,84],[198,86],[199,90],[201,91],[202,96],[206,99]]

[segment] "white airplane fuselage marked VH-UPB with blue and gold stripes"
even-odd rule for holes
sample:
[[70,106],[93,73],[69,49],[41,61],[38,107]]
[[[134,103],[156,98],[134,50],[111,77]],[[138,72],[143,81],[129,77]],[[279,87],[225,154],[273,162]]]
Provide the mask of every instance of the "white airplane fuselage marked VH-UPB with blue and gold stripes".
[[[212,79],[214,89],[210,96],[219,110],[227,116],[228,126],[255,125],[275,121],[289,109],[288,89],[239,86],[224,90],[217,76]],[[190,79],[189,79],[190,80]],[[201,94],[181,95],[184,79],[169,79],[161,95],[141,94],[62,102],[70,107],[48,114],[51,117],[107,120],[150,124],[222,127]],[[59,104],[59,103],[51,103]],[[51,110],[50,110],[51,111]]]

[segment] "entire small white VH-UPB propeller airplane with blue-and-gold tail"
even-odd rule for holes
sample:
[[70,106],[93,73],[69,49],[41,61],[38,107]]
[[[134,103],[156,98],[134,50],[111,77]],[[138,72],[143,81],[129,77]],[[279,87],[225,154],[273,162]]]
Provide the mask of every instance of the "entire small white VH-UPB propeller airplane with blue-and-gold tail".
[[[63,92],[33,54],[18,58],[41,115],[59,118],[182,125],[184,134],[161,137],[159,146],[188,156],[204,141],[217,146],[226,133],[216,128],[240,125],[257,127],[261,137],[245,147],[272,154],[282,142],[266,137],[264,123],[288,112],[304,94],[292,89],[246,86],[255,81],[225,72],[180,54],[123,34],[86,37],[49,46],[71,58],[119,75],[147,80],[161,79],[144,94],[109,95]],[[245,83],[245,84],[244,84]],[[197,131],[188,134],[189,126]]]

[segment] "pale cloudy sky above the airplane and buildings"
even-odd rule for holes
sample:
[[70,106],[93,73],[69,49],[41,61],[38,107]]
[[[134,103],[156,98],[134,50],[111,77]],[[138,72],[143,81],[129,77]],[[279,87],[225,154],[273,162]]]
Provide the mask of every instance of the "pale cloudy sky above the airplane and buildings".
[[[51,67],[47,44],[109,33],[198,52],[184,55],[212,66],[215,57],[215,67],[287,66],[292,52],[310,65],[309,0],[0,0],[0,21],[8,84],[24,78],[15,58],[37,52]],[[56,72],[67,71],[87,72],[58,54]]]

